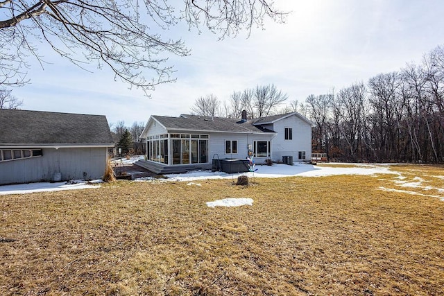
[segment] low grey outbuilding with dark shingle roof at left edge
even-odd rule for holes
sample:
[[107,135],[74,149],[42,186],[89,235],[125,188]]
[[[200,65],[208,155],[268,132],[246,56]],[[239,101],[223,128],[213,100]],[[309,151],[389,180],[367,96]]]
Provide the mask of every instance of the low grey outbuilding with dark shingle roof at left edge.
[[0,184],[100,179],[114,146],[102,115],[0,110]]

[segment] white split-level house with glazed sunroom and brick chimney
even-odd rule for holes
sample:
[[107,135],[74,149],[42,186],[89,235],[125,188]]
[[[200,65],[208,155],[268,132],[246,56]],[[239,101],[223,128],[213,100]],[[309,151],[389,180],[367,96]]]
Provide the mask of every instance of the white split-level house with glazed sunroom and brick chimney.
[[313,123],[297,112],[260,119],[228,119],[198,115],[151,116],[140,135],[146,139],[147,161],[138,163],[155,173],[212,168],[212,159],[266,159],[282,162],[311,157]]

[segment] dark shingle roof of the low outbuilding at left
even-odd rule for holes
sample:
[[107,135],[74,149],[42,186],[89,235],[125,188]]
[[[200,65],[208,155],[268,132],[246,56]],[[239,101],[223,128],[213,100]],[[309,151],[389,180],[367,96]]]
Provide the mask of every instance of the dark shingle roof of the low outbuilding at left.
[[114,145],[103,115],[1,109],[0,146],[6,144]]

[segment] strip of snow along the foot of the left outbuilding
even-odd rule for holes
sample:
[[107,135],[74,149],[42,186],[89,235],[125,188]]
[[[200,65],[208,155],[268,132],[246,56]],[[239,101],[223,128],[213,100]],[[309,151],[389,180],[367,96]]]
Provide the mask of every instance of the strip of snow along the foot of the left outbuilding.
[[99,188],[100,185],[94,185],[94,184],[98,184],[100,182],[103,181],[94,180],[91,182],[87,182],[83,180],[71,180],[69,182],[40,182],[40,183],[28,183],[28,184],[3,185],[0,186],[0,195]]

